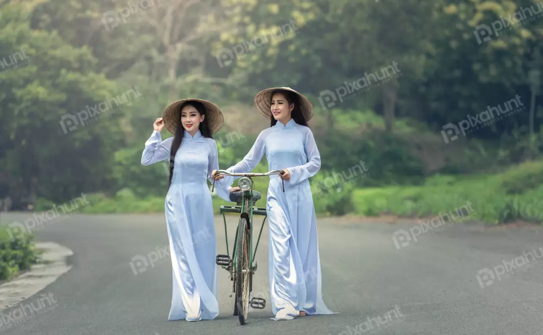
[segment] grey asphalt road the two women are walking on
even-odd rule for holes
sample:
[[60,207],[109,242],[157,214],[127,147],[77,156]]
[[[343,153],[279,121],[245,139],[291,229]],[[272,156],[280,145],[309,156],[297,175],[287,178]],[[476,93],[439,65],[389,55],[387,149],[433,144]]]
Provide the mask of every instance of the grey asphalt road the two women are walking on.
[[[22,221],[26,217],[3,213],[1,220]],[[222,218],[217,217],[216,223],[219,250],[224,250]],[[231,217],[229,241],[233,241],[235,225],[236,219]],[[402,243],[404,238],[397,240],[396,246],[394,231],[419,233],[415,227],[421,228],[408,223],[318,220],[324,300],[340,314],[271,321],[268,304],[264,310],[251,310],[249,323],[241,326],[232,316],[231,282],[222,268],[218,269],[217,319],[199,323],[167,320],[172,270],[164,251],[167,233],[163,215],[73,215],[52,220],[34,231],[37,240],[71,248],[74,267],[40,292],[42,297],[34,295],[2,311],[8,322],[4,320],[0,333],[543,333],[543,249],[539,249],[543,247],[543,229],[483,229],[458,223],[438,232],[421,228],[416,241],[411,236],[407,245]],[[269,299],[267,241],[265,227],[257,252],[254,293]],[[145,261],[131,266],[138,255]],[[36,312],[17,318],[15,309],[30,311],[30,304],[37,306]],[[377,324],[379,318],[382,324]]]

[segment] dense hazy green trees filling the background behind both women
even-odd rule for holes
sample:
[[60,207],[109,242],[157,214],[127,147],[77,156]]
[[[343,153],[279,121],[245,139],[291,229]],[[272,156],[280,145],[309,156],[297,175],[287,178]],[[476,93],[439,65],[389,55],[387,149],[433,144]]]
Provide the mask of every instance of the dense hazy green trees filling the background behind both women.
[[[543,18],[532,11],[541,3],[130,3],[0,0],[0,199],[9,196],[12,209],[85,193],[94,194],[86,211],[160,210],[166,166],[140,158],[163,109],[186,97],[216,102],[225,115],[215,136],[220,167],[228,168],[269,126],[251,105],[272,86],[292,87],[315,107],[321,212],[367,213],[350,200],[366,188],[498,173],[543,149]],[[474,123],[512,100],[514,112]],[[514,197],[536,182],[503,187]]]

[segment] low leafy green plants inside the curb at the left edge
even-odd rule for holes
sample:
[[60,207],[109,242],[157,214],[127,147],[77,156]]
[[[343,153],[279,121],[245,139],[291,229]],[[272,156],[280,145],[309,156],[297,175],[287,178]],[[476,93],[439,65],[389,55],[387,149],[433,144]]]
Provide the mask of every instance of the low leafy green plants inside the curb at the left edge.
[[0,226],[0,281],[10,280],[30,269],[41,254],[34,248],[33,235],[13,231],[17,229],[12,229],[10,234],[9,229],[12,228]]

